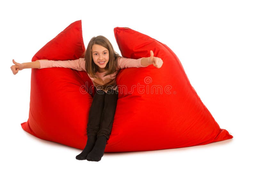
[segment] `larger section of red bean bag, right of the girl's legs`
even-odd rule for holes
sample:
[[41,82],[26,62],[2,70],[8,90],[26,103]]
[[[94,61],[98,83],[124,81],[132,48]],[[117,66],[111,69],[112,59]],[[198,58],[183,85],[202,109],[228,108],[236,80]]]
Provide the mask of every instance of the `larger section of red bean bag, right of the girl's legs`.
[[126,27],[116,27],[114,33],[122,56],[149,57],[153,50],[164,63],[118,73],[118,102],[105,151],[171,149],[233,138],[220,129],[168,46]]

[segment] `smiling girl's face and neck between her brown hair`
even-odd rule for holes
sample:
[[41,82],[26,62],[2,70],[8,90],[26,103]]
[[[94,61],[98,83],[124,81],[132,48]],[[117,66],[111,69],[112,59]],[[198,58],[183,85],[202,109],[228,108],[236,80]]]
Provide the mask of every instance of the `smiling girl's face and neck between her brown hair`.
[[104,68],[109,60],[108,49],[98,44],[94,44],[92,46],[92,58],[94,63],[99,67],[99,72],[105,72],[106,70]]

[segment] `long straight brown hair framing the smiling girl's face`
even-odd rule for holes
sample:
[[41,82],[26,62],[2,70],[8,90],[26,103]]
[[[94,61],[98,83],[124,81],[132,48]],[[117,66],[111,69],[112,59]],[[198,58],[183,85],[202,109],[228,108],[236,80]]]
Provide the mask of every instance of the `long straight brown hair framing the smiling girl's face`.
[[117,58],[121,57],[118,53],[115,52],[112,44],[110,43],[110,41],[102,36],[99,35],[97,37],[92,37],[92,39],[90,40],[90,42],[88,43],[87,49],[85,51],[85,70],[86,72],[91,76],[91,77],[96,77],[95,73],[98,71],[98,66],[93,62],[92,59],[92,46],[94,44],[103,46],[105,48],[108,49],[108,55],[109,55],[109,60],[108,63],[105,67],[105,69],[107,70],[107,73],[104,75],[108,75],[108,74],[113,74],[114,72],[116,72],[116,67],[117,67]]

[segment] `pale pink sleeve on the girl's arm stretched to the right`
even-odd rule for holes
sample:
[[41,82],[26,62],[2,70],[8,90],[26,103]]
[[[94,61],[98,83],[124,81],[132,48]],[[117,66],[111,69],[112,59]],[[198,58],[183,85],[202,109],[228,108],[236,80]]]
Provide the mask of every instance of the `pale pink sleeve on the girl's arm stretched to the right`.
[[118,61],[117,61],[117,67],[119,69],[122,69],[122,68],[129,68],[129,67],[146,67],[146,66],[142,66],[141,65],[141,60],[142,58],[139,58],[139,59],[129,59],[129,58],[126,58],[126,57],[120,57],[118,58]]

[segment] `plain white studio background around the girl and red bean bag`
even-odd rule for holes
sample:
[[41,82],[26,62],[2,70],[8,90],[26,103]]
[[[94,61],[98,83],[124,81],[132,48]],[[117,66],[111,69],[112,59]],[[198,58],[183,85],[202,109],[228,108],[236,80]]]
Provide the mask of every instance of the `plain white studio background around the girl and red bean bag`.
[[[256,6],[248,0],[166,2],[1,1],[0,169],[255,168]],[[117,26],[169,46],[202,102],[234,138],[186,148],[105,153],[99,162],[89,162],[75,159],[79,149],[23,131],[31,69],[13,75],[12,59],[30,62],[42,46],[80,19],[85,47],[93,36],[104,35],[120,54],[113,32]]]

